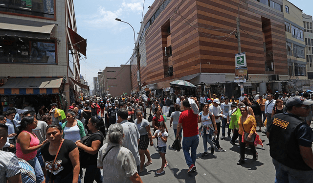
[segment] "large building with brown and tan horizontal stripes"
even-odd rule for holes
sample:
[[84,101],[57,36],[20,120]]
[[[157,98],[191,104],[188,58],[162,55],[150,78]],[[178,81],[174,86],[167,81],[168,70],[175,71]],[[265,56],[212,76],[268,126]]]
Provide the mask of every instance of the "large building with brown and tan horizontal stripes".
[[[284,90],[289,75],[283,0],[239,2],[155,0],[136,42],[140,61],[131,57],[133,90],[140,89],[139,83],[141,89],[162,92],[178,79],[228,96],[240,95],[241,87],[246,93]],[[238,5],[248,74],[243,86],[234,82]]]

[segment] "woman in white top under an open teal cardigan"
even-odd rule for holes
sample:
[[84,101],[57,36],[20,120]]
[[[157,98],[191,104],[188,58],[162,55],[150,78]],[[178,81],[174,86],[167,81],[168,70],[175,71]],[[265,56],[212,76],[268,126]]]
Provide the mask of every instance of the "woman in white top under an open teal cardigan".
[[67,112],[67,121],[62,124],[63,137],[72,140],[74,143],[86,136],[83,123],[75,118],[75,113]]

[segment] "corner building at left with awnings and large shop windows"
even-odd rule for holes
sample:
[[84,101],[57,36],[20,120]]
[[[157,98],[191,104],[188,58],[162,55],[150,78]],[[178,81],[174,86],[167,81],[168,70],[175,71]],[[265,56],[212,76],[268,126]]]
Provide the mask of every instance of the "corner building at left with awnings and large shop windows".
[[[21,3],[22,2],[22,3]],[[29,102],[67,110],[79,100],[79,59],[87,41],[79,36],[73,0],[4,0],[0,3],[1,101]],[[5,103],[3,103],[5,105]]]

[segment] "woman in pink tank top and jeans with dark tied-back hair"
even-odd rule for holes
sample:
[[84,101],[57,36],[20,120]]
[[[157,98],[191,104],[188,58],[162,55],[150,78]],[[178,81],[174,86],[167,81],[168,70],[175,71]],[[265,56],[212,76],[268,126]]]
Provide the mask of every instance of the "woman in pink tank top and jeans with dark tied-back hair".
[[36,182],[44,183],[45,176],[36,157],[37,150],[41,148],[47,140],[40,143],[38,137],[32,132],[37,127],[38,121],[35,116],[26,116],[21,121],[21,126],[17,129],[16,156],[26,160],[35,170]]

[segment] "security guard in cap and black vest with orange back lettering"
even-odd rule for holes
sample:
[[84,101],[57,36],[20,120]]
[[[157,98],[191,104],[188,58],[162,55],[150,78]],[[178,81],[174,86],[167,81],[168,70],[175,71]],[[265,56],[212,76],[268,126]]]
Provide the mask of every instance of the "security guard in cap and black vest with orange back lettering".
[[300,117],[307,116],[312,100],[291,97],[287,112],[272,117],[267,131],[269,153],[276,169],[275,183],[313,183],[313,131]]

